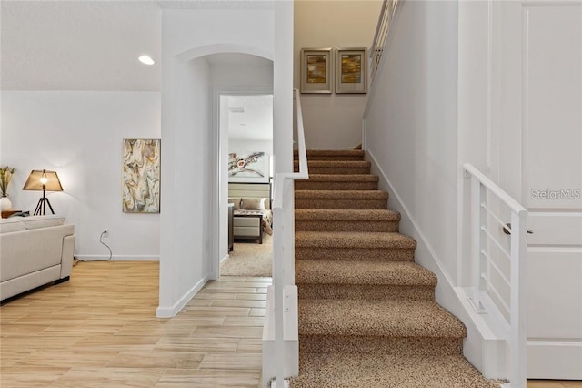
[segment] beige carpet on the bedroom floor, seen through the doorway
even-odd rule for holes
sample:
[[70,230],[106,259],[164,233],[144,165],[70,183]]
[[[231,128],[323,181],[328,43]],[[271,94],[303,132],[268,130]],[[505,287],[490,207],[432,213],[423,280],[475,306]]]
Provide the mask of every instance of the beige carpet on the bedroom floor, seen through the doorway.
[[220,275],[270,277],[273,271],[273,236],[264,233],[263,243],[236,240],[235,250],[220,264]]

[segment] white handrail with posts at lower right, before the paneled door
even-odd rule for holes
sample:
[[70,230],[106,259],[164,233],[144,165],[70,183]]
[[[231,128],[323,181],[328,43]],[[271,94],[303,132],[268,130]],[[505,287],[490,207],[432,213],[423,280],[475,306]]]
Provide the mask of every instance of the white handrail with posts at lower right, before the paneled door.
[[[483,304],[487,304],[490,309],[497,309],[500,304],[509,318],[503,322],[509,326],[509,377],[511,388],[526,388],[527,385],[527,333],[526,333],[526,277],[527,277],[527,209],[517,200],[511,198],[506,191],[499,188],[485,174],[470,164],[463,166],[465,176],[471,179],[471,261],[473,268],[473,295],[471,303],[477,312],[483,312]],[[490,207],[487,206],[487,193],[500,200],[507,209],[511,211],[511,240],[509,259],[509,276],[502,275],[502,279],[509,279],[509,301],[505,301],[495,284],[487,277],[487,270],[493,267],[499,271],[499,267],[490,260],[487,251],[487,239],[492,241],[499,248],[502,248],[495,238],[496,230],[487,229],[487,214]],[[499,219],[494,218],[497,222]],[[497,225],[498,226],[498,225]],[[509,229],[507,229],[509,230]],[[497,233],[499,231],[497,230]],[[502,249],[503,250],[503,249]],[[507,251],[503,250],[506,254]],[[484,283],[487,281],[487,284]],[[494,301],[491,294],[497,299]],[[497,317],[505,317],[502,313],[495,314]]]

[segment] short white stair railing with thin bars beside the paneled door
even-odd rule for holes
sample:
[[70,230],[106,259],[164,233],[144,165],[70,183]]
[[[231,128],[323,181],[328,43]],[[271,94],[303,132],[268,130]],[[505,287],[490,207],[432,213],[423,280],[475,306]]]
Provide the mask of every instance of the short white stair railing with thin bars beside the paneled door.
[[[463,168],[471,179],[469,301],[478,313],[487,312],[507,328],[511,388],[526,388],[527,210],[474,166]],[[510,222],[501,220],[503,210],[510,214]]]

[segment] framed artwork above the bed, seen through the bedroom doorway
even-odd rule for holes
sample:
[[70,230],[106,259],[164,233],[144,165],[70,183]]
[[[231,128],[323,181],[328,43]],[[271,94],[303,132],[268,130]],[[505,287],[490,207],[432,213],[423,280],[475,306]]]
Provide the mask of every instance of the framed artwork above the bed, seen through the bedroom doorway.
[[228,154],[229,182],[267,183],[269,178],[269,156],[265,152],[231,152]]

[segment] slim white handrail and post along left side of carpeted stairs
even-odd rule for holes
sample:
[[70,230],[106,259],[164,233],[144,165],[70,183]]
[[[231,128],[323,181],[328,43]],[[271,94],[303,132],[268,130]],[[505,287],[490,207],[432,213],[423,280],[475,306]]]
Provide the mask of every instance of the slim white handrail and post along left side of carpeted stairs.
[[[277,173],[275,175],[274,199],[273,199],[273,220],[274,230],[282,234],[285,228],[295,228],[295,218],[291,213],[291,222],[285,223],[285,182],[286,180],[308,179],[306,138],[303,128],[303,113],[301,111],[301,98],[299,91],[294,89],[296,99],[296,120],[297,120],[297,143],[299,156],[299,172]],[[288,221],[288,220],[287,220]],[[286,268],[286,247],[289,241],[279,240],[280,243],[273,247],[273,288],[275,301],[275,380],[272,388],[285,387],[285,268]],[[294,241],[290,242],[295,243]],[[292,263],[291,263],[292,264]]]

